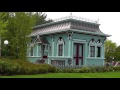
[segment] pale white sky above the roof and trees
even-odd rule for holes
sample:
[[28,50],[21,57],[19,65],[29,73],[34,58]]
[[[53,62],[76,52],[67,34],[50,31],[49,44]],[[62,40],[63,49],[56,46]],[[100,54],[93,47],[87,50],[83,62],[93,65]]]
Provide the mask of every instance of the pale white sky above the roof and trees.
[[107,39],[120,45],[120,12],[45,12],[47,14],[46,19],[57,19],[65,16],[84,17],[87,19],[98,20],[99,28],[105,33],[111,35]]

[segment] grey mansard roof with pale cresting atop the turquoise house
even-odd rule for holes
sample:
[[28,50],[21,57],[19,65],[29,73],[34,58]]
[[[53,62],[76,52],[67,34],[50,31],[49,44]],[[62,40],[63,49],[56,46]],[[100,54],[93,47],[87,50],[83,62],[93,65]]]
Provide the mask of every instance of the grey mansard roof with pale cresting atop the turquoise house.
[[69,16],[54,20],[53,22],[50,23],[33,27],[33,32],[30,34],[30,36],[36,36],[38,34],[45,35],[66,31],[93,34],[106,37],[110,36],[104,34],[99,29],[99,25],[100,24],[98,23],[98,21]]

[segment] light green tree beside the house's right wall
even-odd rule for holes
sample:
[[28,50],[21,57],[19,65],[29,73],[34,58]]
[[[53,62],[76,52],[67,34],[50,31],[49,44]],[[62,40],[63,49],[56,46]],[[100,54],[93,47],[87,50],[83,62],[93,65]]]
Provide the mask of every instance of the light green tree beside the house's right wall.
[[105,42],[105,58],[106,61],[111,61],[115,58],[116,43],[113,43],[111,40],[106,40]]

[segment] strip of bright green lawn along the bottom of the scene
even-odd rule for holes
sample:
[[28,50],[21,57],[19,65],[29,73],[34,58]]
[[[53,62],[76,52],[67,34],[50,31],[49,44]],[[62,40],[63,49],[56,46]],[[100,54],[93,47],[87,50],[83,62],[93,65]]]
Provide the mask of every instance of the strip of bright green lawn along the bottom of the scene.
[[48,73],[37,75],[13,75],[0,76],[0,78],[120,78],[120,71],[105,73]]

